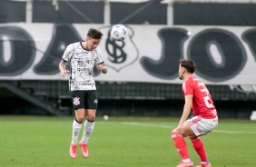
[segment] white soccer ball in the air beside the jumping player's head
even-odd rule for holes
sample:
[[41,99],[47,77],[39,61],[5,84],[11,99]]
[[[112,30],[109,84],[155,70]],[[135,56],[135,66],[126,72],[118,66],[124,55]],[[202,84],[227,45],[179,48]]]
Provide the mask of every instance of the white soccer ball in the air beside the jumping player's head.
[[124,25],[113,25],[110,35],[115,41],[123,41],[128,35],[127,28]]

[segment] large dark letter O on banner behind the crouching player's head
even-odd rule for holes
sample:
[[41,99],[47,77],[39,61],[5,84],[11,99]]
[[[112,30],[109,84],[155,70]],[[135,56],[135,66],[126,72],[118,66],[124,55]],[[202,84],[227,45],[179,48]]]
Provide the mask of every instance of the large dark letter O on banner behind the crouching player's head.
[[[217,52],[211,52],[214,44]],[[216,56],[221,57],[217,64]],[[188,46],[188,58],[196,63],[195,73],[211,82],[223,82],[239,74],[247,61],[241,41],[235,34],[222,29],[207,29],[193,36]]]

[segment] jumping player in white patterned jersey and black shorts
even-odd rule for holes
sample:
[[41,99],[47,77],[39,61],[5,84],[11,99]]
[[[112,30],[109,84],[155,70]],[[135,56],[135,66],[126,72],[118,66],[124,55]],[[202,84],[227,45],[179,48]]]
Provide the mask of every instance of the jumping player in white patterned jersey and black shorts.
[[[82,149],[82,154],[86,158],[89,156],[87,142],[94,130],[94,120],[97,109],[97,93],[94,82],[94,64],[103,74],[107,73],[107,68],[103,61],[103,54],[98,47],[103,34],[94,28],[89,29],[85,41],[69,44],[62,56],[59,64],[61,76],[70,74],[69,90],[72,95],[75,119],[73,122],[72,141],[69,154],[76,157],[77,145]],[[70,70],[65,69],[69,62]],[[84,133],[82,140],[78,142],[78,135],[84,123]]]

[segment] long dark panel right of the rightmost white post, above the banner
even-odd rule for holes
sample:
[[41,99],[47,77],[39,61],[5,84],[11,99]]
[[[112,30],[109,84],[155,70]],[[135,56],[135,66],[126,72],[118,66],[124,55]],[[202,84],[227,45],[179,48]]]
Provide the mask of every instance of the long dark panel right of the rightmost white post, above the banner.
[[174,25],[256,25],[256,4],[174,3]]

